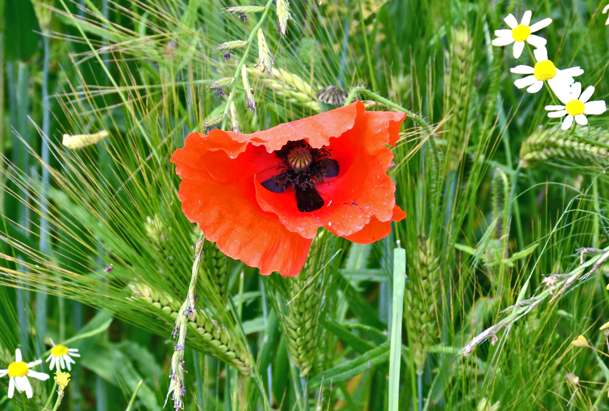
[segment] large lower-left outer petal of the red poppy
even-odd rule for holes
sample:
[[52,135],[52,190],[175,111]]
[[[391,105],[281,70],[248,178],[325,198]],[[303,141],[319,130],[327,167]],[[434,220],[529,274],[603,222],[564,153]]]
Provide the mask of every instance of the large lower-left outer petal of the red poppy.
[[220,251],[258,267],[261,274],[297,275],[311,240],[288,231],[275,214],[260,209],[253,177],[233,184],[212,178],[200,160],[205,150],[199,140],[186,139],[184,148],[171,158],[182,179],[178,197],[185,216],[198,222],[206,239],[216,242]]

